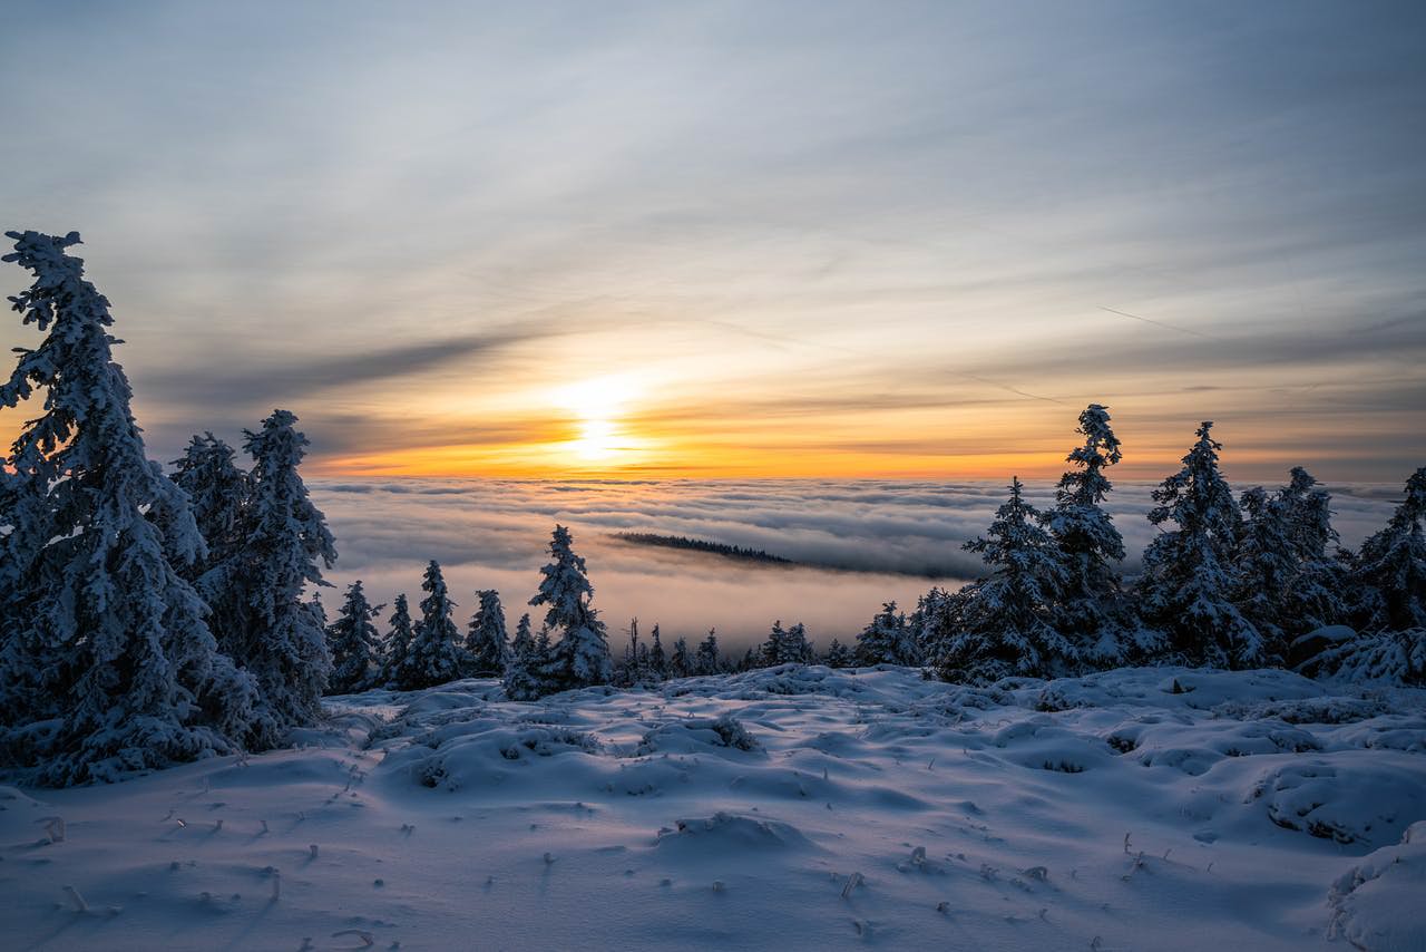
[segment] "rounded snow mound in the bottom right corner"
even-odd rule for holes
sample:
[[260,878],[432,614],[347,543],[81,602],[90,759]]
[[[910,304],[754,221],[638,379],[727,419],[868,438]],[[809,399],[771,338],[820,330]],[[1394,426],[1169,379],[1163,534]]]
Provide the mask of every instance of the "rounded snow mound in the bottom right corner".
[[1412,824],[1402,841],[1382,846],[1332,883],[1329,938],[1373,952],[1426,949],[1426,822]]

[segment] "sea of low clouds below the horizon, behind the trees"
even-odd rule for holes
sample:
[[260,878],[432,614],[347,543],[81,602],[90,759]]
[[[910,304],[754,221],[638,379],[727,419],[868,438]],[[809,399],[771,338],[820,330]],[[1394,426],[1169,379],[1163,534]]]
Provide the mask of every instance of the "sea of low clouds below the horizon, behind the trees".
[[[911,481],[311,481],[337,535],[341,558],[328,572],[338,591],[361,578],[375,601],[396,592],[421,598],[421,574],[438,559],[461,621],[479,588],[496,588],[513,629],[548,561],[556,522],[575,535],[595,585],[595,605],[619,634],[637,617],[643,632],[659,622],[666,641],[702,638],[742,647],[764,637],[773,619],[801,621],[819,644],[850,639],[881,602],[904,608],[931,585],[957,587],[983,572],[961,544],[985,531],[1005,498],[998,482]],[[1109,504],[1129,558],[1154,528],[1145,514],[1151,484],[1121,482]],[[1028,485],[1040,507],[1054,490]],[[1385,524],[1395,487],[1333,487],[1335,525],[1356,545]],[[740,562],[704,552],[633,545],[615,532],[687,535],[759,548],[803,565]],[[533,612],[533,609],[530,609]],[[533,614],[536,622],[539,614]]]

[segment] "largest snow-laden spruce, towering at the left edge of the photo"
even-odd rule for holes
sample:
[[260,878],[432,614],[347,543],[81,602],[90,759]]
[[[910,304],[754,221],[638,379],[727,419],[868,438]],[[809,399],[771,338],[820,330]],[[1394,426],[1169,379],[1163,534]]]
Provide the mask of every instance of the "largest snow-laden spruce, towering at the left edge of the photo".
[[108,300],[66,254],[78,234],[6,234],[3,260],[34,275],[10,300],[46,337],[19,353],[0,407],[46,395],[0,467],[0,764],[67,785],[232,752],[252,685],[170,561],[205,548],[188,497],[144,455]]

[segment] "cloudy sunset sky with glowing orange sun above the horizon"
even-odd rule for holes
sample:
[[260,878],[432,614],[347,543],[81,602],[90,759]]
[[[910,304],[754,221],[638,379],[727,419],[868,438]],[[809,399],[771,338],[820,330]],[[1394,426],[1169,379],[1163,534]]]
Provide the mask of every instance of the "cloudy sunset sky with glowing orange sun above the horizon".
[[1426,461],[1419,3],[10,3],[0,120],[164,460],[1002,481],[1102,402],[1124,478]]

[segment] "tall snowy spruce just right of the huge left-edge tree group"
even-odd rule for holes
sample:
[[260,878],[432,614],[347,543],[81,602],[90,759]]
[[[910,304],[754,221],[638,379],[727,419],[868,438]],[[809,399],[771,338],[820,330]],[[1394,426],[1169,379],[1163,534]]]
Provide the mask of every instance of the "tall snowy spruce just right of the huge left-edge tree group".
[[261,430],[244,431],[252,455],[247,541],[200,579],[215,605],[220,645],[257,681],[257,748],[277,746],[288,728],[318,718],[332,667],[325,621],[302,592],[327,584],[322,568],[337,561],[337,548],[298,474],[308,441],[295,422],[289,411],[274,410]]

